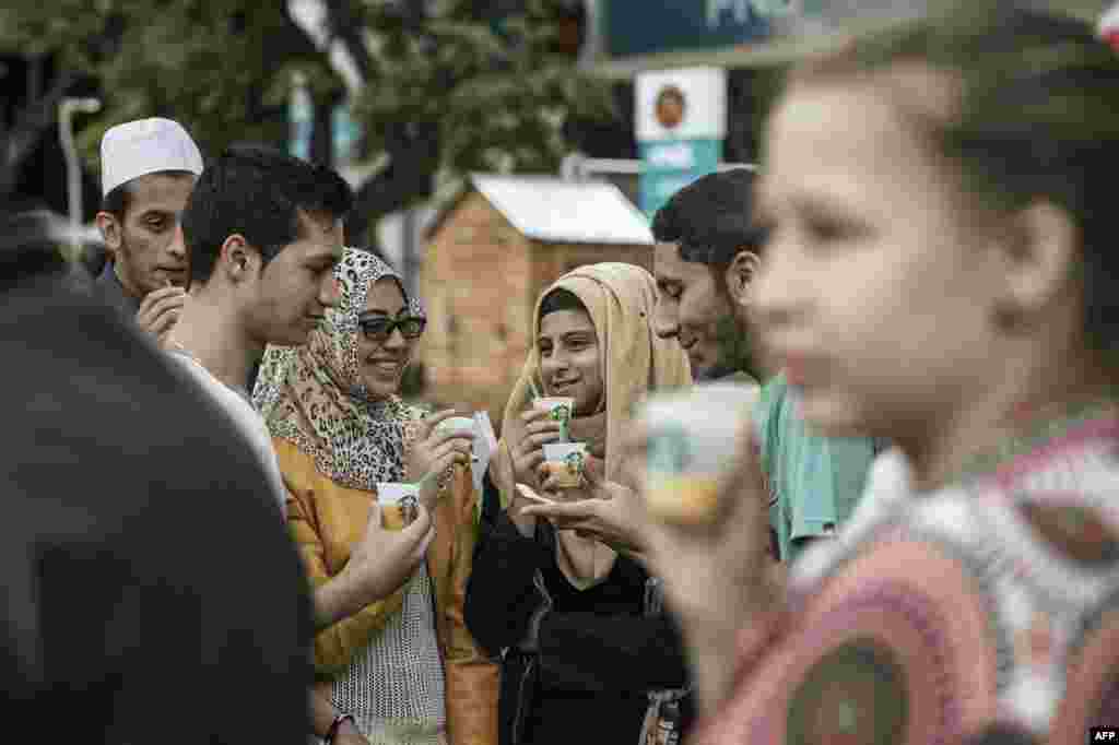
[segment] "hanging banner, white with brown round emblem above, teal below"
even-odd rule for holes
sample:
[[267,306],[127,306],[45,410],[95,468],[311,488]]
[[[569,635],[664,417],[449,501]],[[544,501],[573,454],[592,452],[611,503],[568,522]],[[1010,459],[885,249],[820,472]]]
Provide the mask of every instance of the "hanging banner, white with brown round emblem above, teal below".
[[641,157],[639,201],[648,217],[723,160],[726,70],[720,67],[641,73],[634,103]]

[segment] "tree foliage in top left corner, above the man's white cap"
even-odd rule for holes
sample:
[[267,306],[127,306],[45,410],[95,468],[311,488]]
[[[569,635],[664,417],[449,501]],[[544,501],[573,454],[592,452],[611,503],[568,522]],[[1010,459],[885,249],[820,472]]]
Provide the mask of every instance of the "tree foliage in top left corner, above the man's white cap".
[[79,135],[91,164],[106,129],[143,116],[175,117],[217,152],[236,140],[283,140],[275,95],[283,65],[329,77],[326,60],[282,8],[247,0],[16,0],[0,10],[0,44],[55,53],[63,68],[100,82],[104,107]]

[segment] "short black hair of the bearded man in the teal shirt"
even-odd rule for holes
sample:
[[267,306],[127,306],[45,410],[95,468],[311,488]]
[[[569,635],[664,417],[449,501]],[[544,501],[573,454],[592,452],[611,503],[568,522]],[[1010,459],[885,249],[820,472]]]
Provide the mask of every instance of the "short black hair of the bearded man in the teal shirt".
[[680,258],[716,272],[725,272],[743,247],[761,252],[765,230],[754,219],[754,179],[749,168],[696,179],[657,210],[653,237],[679,244]]

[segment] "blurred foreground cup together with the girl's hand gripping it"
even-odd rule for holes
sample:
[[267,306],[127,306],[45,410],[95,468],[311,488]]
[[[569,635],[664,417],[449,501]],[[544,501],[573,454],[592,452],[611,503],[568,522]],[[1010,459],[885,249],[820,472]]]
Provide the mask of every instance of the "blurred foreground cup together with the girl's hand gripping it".
[[626,450],[646,464],[647,545],[669,603],[689,625],[736,629],[773,602],[769,494],[752,399],[704,388],[650,402]]

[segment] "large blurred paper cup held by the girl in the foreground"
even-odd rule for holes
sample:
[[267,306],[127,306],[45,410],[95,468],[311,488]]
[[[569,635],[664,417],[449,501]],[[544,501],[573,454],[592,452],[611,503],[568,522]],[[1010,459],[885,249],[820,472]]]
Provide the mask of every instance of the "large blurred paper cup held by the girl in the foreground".
[[737,453],[756,392],[713,384],[651,398],[641,419],[648,433],[646,504],[665,522],[711,524],[718,513],[718,479]]

